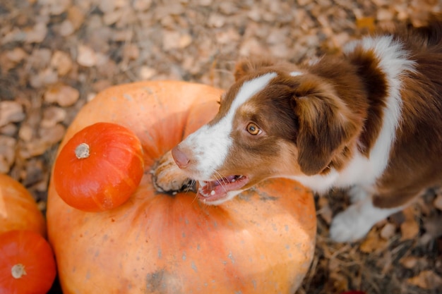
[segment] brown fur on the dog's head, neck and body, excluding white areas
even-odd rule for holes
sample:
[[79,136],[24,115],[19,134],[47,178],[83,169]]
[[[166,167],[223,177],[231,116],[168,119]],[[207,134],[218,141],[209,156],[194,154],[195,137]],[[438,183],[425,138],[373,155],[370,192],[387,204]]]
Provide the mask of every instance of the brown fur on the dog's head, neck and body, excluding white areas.
[[[417,63],[402,75],[402,121],[390,161],[378,179],[374,204],[397,207],[442,183],[442,25],[398,30],[395,37]],[[237,82],[222,101],[221,118],[244,80],[277,73],[268,87],[239,112],[234,146],[222,174],[256,173],[249,185],[275,174],[313,175],[340,171],[357,145],[364,156],[376,142],[384,119],[388,80],[372,51],[356,47],[347,56],[323,57],[297,68],[268,60],[241,61]],[[290,76],[290,71],[303,75]],[[257,111],[259,109],[259,111]],[[267,131],[259,140],[238,130],[253,120]],[[277,162],[275,162],[277,161]]]

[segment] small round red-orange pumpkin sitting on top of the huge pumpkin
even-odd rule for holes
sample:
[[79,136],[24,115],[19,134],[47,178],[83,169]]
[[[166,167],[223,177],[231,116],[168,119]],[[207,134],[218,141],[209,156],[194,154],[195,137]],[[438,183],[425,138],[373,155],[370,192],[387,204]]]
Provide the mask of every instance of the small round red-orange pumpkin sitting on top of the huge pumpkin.
[[143,172],[143,151],[136,135],[115,123],[94,123],[61,149],[54,185],[71,207],[99,212],[126,202]]

